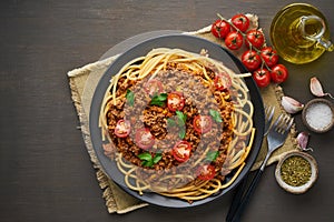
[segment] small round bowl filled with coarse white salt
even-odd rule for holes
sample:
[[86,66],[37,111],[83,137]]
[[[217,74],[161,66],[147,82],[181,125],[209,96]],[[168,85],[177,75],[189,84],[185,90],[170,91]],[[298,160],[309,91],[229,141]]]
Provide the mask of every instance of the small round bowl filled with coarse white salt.
[[334,105],[325,99],[314,99],[303,109],[303,122],[313,132],[323,133],[334,125]]

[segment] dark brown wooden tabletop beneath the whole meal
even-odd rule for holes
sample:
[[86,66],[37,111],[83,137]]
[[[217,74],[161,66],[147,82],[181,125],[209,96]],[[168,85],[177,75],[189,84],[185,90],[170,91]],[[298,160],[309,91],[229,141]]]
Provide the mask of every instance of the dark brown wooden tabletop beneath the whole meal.
[[[233,193],[203,206],[148,206],[108,214],[70,98],[67,71],[94,62],[109,48],[154,30],[197,30],[219,12],[259,17],[268,37],[272,19],[292,0],[118,1],[49,0],[0,2],[0,221],[225,221]],[[334,34],[332,0],[314,3]],[[313,99],[311,77],[334,93],[334,54],[295,65],[282,87],[302,102]],[[296,115],[298,131],[306,130]],[[283,191],[274,165],[264,173],[243,221],[333,221],[334,130],[311,134],[320,178],[303,195]]]

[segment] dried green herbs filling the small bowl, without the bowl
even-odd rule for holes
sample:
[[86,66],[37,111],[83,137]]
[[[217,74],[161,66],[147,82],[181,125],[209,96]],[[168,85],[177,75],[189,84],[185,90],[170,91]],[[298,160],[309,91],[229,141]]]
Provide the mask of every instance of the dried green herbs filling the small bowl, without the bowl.
[[301,186],[308,182],[312,174],[311,164],[302,157],[287,158],[281,167],[281,176],[292,186]]

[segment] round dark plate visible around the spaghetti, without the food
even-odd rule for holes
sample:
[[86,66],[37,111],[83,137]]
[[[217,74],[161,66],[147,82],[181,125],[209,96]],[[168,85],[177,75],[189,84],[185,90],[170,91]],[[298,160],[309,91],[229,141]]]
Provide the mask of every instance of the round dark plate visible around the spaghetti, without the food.
[[[138,192],[127,188],[127,185],[124,182],[124,174],[117,169],[115,162],[104,154],[104,150],[101,148],[102,144],[101,131],[100,128],[98,127],[99,112],[100,112],[101,102],[105,92],[109,85],[109,80],[111,79],[112,74],[117,73],[128,61],[137,57],[145,56],[154,48],[161,48],[161,47],[178,48],[195,53],[198,53],[202,49],[206,49],[208,50],[210,58],[216,59],[218,61],[223,61],[226,67],[234,70],[236,73],[247,72],[243,63],[236,57],[234,57],[232,53],[226,51],[220,46],[215,44],[202,38],[186,36],[186,34],[168,34],[168,36],[153,38],[145,42],[141,42],[135,46],[134,48],[129,49],[125,53],[122,53],[120,57],[118,57],[118,59],[109,67],[109,69],[100,79],[97,89],[95,91],[95,94],[92,97],[91,107],[90,107],[89,129],[91,134],[91,142],[96,155],[104,171],[107,173],[107,175],[132,196],[136,196],[151,204],[169,206],[169,208],[189,208],[189,206],[200,205],[209,201],[213,201],[217,198],[220,198],[228,191],[233,190],[240,182],[240,180],[246,175],[246,173],[250,170],[261,149],[263,134],[264,134],[263,101],[258,88],[256,87],[254,80],[252,78],[245,78],[246,84],[249,89],[250,100],[253,102],[254,110],[255,110],[253,121],[254,121],[254,127],[256,128],[256,134],[255,134],[252,151],[246,160],[246,165],[243,169],[242,173],[238,175],[238,178],[235,180],[235,182],[232,183],[232,185],[222,190],[216,195],[212,195],[204,200],[195,201],[191,204],[179,199],[166,198],[157,193],[149,192],[149,193],[145,193],[144,195],[139,195]],[[229,180],[232,176],[233,173],[230,173],[226,178],[226,180]]]

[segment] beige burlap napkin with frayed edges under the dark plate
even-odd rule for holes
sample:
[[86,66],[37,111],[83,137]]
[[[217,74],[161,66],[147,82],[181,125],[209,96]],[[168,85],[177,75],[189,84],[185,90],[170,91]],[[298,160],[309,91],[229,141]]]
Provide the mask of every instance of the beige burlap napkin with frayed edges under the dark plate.
[[[257,17],[253,14],[247,14],[252,20],[252,26],[257,27]],[[220,40],[217,40],[210,34],[210,26],[205,27],[195,32],[185,32],[184,34],[194,34],[205,39],[208,39],[213,42],[223,44]],[[243,49],[242,49],[243,50]],[[234,51],[237,57],[239,57],[242,50]],[[77,113],[80,121],[80,129],[82,132],[82,137],[86,143],[87,151],[90,155],[94,168],[97,170],[97,180],[99,182],[100,188],[104,191],[104,199],[106,200],[106,206],[109,213],[126,213],[143,206],[146,206],[147,203],[144,203],[126,192],[124,192],[120,188],[118,188],[101,170],[99,161],[94,152],[92,144],[90,141],[89,134],[89,108],[90,101],[96,89],[96,85],[100,79],[100,77],[105,73],[108,67],[112,63],[112,61],[117,58],[117,54],[104,59],[101,61],[97,61],[90,64],[87,64],[82,68],[75,69],[68,72],[69,84],[71,89],[71,95],[77,109]],[[265,104],[275,105],[275,118],[283,112],[281,108],[281,98],[283,95],[282,88],[276,84],[271,84],[269,87],[262,89],[261,94],[263,97]],[[288,139],[285,144],[273,153],[267,164],[272,164],[279,160],[279,158],[292,150],[295,150],[296,141],[295,141],[295,129],[292,129]],[[266,155],[267,144],[264,140],[263,147],[261,149],[259,155],[253,167],[252,170],[256,170],[259,168],[264,157]]]

